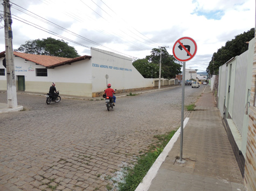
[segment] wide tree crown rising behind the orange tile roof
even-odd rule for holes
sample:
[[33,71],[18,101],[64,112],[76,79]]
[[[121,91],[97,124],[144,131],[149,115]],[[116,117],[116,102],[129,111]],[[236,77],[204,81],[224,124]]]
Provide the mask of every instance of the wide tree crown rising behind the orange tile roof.
[[49,55],[58,57],[75,58],[79,57],[77,50],[74,47],[68,46],[68,43],[64,40],[56,40],[53,38],[29,40],[25,42],[25,45],[20,45],[15,51],[28,53]]

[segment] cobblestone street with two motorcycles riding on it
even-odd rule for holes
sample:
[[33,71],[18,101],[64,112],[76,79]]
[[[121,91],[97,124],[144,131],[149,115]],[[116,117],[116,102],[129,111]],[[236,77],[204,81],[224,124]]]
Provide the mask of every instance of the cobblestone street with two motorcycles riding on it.
[[[185,105],[203,90],[185,86]],[[181,92],[120,97],[109,112],[104,100],[46,105],[44,96],[17,94],[24,111],[0,114],[0,190],[116,190],[123,167],[157,144],[154,135],[180,126]]]

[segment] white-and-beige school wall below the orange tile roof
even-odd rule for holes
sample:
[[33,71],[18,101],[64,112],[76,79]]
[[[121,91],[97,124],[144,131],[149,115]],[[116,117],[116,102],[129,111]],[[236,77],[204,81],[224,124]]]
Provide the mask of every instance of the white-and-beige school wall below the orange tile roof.
[[[0,59],[2,63],[3,58]],[[4,68],[3,65],[0,68]],[[18,76],[25,77],[25,91],[47,93],[52,82],[56,83],[61,94],[73,96],[92,96],[91,62],[89,60],[47,69],[47,76],[36,76],[36,69],[42,65],[15,57],[15,76],[18,90]],[[5,69],[5,68],[4,68]],[[5,76],[0,76],[0,90],[6,90]]]

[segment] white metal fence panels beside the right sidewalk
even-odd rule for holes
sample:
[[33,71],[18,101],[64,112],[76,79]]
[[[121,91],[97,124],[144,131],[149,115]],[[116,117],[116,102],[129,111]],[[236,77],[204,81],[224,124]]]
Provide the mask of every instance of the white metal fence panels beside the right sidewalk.
[[[243,120],[246,106],[247,58],[248,50],[219,67],[218,108],[222,117],[224,117],[226,111],[232,114],[232,120],[234,124],[236,124],[240,135],[243,133]],[[232,64],[232,72],[229,71],[229,64]],[[235,71],[233,72],[233,70]],[[234,86],[233,89],[229,88],[229,80],[232,79],[234,79],[234,84],[232,84]],[[232,95],[232,100],[229,100],[227,96],[229,94]],[[231,103],[229,101],[233,102]],[[229,104],[232,105],[232,107],[229,108],[231,111],[225,108],[225,106],[229,107]],[[226,117],[229,113],[226,113]]]

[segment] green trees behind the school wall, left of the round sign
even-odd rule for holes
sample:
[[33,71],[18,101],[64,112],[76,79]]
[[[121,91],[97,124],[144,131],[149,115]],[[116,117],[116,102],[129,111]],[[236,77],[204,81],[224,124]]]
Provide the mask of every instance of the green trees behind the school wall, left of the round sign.
[[[151,55],[134,61],[133,65],[144,78],[158,78],[160,54],[160,49],[153,48]],[[170,55],[165,48],[162,48],[161,67],[161,77],[170,79],[181,73],[182,65],[177,64],[174,56]]]

